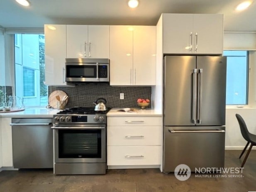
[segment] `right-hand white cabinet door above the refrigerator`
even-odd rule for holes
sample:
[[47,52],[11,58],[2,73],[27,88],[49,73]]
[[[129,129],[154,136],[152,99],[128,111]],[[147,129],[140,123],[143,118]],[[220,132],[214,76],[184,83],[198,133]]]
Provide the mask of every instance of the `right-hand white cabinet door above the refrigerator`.
[[[223,15],[195,14],[193,52],[198,54],[222,54]],[[195,34],[197,33],[197,36]],[[196,51],[197,46],[197,51]]]

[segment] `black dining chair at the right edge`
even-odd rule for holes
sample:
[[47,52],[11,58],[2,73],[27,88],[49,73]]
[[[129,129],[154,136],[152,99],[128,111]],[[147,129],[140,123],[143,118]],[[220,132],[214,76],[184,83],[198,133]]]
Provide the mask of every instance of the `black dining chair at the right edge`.
[[251,145],[250,145],[250,147],[249,147],[249,150],[248,150],[248,152],[246,153],[246,156],[245,156],[245,158],[244,158],[244,160],[243,160],[243,163],[242,163],[242,165],[241,165],[241,168],[242,168],[242,167],[244,167],[244,164],[245,164],[245,162],[246,162],[246,160],[247,160],[247,158],[248,158],[248,156],[249,156],[249,153],[251,152],[251,148],[252,148],[253,146],[256,146],[256,135],[251,134],[251,133],[248,131],[247,126],[246,126],[246,124],[245,124],[245,122],[244,122],[244,119],[241,117],[241,115],[236,114],[236,119],[237,119],[237,121],[238,121],[238,123],[239,123],[240,130],[241,130],[241,134],[242,134],[242,136],[244,137],[244,139],[247,141],[247,144],[246,144],[246,146],[244,147],[244,150],[242,151],[241,155],[239,156],[239,159],[240,159],[241,156],[244,154],[244,152],[245,152],[246,148],[248,147],[249,143],[251,143]]

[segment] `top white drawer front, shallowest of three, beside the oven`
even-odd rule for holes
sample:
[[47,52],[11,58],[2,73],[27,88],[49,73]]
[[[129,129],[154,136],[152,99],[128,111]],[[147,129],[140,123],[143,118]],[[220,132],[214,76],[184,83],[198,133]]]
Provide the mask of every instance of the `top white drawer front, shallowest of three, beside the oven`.
[[108,126],[161,126],[161,117],[107,117]]

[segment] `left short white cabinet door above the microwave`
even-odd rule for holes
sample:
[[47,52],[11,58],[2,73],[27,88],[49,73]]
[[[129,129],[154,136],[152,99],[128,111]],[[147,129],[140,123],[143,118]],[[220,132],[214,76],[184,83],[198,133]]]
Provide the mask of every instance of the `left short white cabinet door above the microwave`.
[[88,58],[88,25],[67,25],[67,58]]

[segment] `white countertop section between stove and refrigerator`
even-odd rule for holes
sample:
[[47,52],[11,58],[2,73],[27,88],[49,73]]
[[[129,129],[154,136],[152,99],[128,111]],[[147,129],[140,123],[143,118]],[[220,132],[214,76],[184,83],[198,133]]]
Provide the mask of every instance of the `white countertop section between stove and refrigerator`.
[[140,109],[138,112],[119,112],[121,108],[112,108],[107,117],[110,116],[162,116],[162,113],[154,109]]

